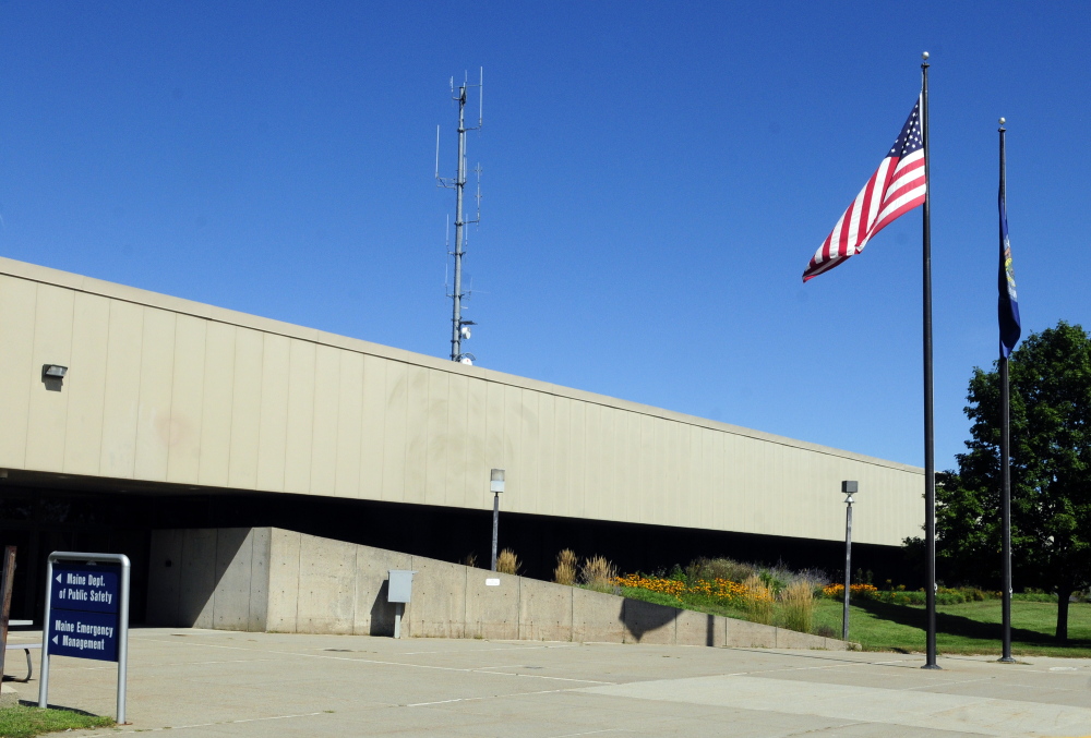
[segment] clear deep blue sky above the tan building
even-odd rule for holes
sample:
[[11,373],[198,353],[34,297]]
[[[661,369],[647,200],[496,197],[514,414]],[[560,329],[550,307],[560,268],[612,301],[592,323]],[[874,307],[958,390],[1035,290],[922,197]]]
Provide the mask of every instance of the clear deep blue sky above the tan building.
[[[1086,3],[0,2],[0,254],[446,356],[435,125],[484,66],[479,365],[923,463],[916,210],[804,286],[932,52],[936,457],[1091,327]],[[2,316],[0,316],[2,319]]]

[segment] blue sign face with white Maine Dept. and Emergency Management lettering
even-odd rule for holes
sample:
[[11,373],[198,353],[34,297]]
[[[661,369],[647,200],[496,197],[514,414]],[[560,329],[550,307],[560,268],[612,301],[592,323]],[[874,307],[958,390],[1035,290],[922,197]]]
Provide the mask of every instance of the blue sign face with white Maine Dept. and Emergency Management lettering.
[[57,561],[49,582],[49,653],[118,661],[120,568]]

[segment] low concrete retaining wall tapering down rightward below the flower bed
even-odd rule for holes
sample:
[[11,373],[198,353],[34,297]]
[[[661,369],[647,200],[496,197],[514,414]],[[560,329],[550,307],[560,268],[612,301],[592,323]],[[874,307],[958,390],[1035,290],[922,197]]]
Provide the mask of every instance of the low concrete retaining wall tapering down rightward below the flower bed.
[[391,569],[417,571],[403,618],[403,633],[415,638],[846,648],[783,628],[276,528],[153,532],[147,621],[392,636]]

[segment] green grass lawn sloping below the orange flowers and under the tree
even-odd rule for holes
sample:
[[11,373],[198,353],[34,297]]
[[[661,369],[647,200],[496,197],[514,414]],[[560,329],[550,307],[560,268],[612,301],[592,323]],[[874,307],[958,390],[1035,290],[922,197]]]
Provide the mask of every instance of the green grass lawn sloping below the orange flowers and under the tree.
[[[678,607],[676,597],[647,590],[623,588],[626,597]],[[840,601],[816,601],[815,631],[840,638]],[[683,607],[702,613],[746,619],[743,610],[684,595]],[[1053,633],[1057,605],[1052,602],[1011,603],[1011,652],[1019,656],[1091,657],[1091,604],[1068,606],[1068,645],[1057,645]],[[774,622],[776,625],[776,622]],[[922,653],[925,648],[925,612],[914,605],[890,605],[873,600],[853,600],[849,616],[849,640],[865,651]],[[1000,654],[1000,601],[970,602],[936,607],[936,645],[940,654]]]

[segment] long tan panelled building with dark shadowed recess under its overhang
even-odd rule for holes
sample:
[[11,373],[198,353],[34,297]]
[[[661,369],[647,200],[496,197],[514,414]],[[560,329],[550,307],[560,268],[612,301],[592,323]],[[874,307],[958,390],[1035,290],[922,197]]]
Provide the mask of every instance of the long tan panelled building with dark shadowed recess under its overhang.
[[0,527],[33,557],[221,524],[487,554],[491,468],[502,545],[531,566],[588,540],[647,549],[642,532],[836,551],[844,479],[861,544],[889,552],[923,520],[918,468],[4,258],[0,419],[19,508]]

